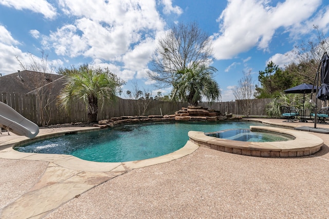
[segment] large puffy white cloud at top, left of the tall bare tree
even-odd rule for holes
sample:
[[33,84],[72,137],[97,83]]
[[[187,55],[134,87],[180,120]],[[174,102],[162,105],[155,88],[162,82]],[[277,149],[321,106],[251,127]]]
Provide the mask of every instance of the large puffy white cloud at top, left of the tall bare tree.
[[58,55],[116,62],[131,71],[146,68],[155,38],[165,26],[155,0],[61,0],[59,5],[76,21],[43,36],[46,48],[53,48]]

